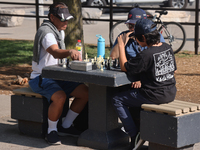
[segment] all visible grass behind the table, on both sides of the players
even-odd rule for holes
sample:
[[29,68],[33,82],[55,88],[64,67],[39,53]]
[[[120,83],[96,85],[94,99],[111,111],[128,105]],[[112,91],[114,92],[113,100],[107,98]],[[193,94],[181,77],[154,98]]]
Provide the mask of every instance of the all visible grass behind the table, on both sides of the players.
[[[33,56],[33,41],[24,40],[0,40],[0,67],[18,64],[30,64]],[[88,58],[97,56],[97,46],[85,44],[85,52]],[[105,58],[109,57],[110,47],[105,48]],[[176,57],[194,57],[194,52],[181,51]],[[196,55],[197,56],[197,55]]]

